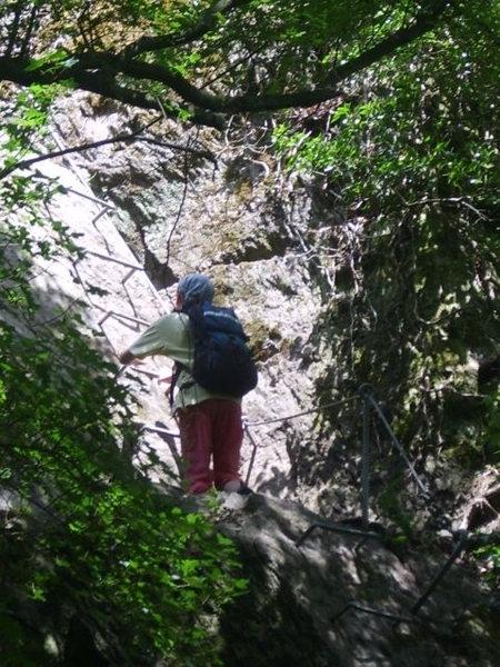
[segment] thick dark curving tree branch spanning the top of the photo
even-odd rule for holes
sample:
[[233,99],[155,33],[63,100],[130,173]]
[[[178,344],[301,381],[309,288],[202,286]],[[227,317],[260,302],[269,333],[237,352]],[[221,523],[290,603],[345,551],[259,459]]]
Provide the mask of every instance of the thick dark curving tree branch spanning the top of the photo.
[[[217,0],[207,14],[189,33],[191,37],[202,34],[211,26],[217,11],[231,11],[247,4],[249,0]],[[16,83],[54,83],[72,81],[83,90],[118,100],[120,102],[143,109],[158,109],[158,98],[151,93],[138,90],[136,82],[161,83],[179,99],[161,99],[167,115],[178,119],[179,113],[187,112],[194,125],[213,127],[222,130],[226,118],[232,115],[276,111],[293,107],[312,107],[337,97],[340,93],[339,83],[356,72],[379,62],[393,54],[398,49],[408,46],[423,34],[434,29],[446,11],[452,11],[460,6],[460,0],[433,0],[416,16],[411,26],[396,30],[390,37],[382,39],[376,46],[367,49],[358,57],[336,68],[323,82],[316,88],[303,88],[288,93],[218,96],[201,87],[192,84],[186,77],[173,72],[168,67],[144,62],[131,57],[149,48],[163,48],[170,38],[141,38],[133,48],[127,48],[120,56],[109,51],[86,52],[73,57],[73,64],[57,67],[53,63],[42,64],[30,69],[30,61],[22,58],[0,58],[2,78]],[[188,33],[184,33],[184,39]],[[163,40],[163,42],[161,41]],[[161,47],[160,44],[163,44]],[[76,60],[76,61],[74,61]],[[119,82],[119,77],[131,80],[129,86]],[[166,91],[166,98],[168,91]]]

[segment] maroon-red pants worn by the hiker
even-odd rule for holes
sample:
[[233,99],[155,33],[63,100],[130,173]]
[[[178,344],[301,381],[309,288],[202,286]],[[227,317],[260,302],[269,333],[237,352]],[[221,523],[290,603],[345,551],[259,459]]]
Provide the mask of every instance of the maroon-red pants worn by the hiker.
[[176,419],[188,494],[202,494],[212,485],[223,489],[228,481],[240,480],[238,470],[243,426],[239,404],[210,398],[180,408]]

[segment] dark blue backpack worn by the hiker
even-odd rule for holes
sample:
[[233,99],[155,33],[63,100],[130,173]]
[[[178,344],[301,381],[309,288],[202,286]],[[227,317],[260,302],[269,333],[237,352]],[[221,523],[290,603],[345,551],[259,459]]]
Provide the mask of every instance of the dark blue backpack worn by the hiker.
[[[190,375],[193,380],[209,391],[233,398],[242,398],[254,389],[257,366],[234,310],[204,301],[181,312],[186,312],[190,321],[193,344]],[[176,364],[172,387],[182,368]]]

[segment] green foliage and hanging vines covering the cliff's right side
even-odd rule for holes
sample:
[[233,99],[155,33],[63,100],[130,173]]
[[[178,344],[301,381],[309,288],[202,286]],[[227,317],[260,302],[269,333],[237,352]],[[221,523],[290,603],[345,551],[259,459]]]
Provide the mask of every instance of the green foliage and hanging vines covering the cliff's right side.
[[[318,335],[349,332],[320,399],[332,384],[348,396],[372,384],[422,464],[498,462],[498,377],[478,386],[478,366],[498,357],[500,337],[499,19],[498,2],[468,4],[274,130],[289,170],[324,200],[310,242],[334,266],[336,295]],[[387,488],[397,512],[404,481]]]

